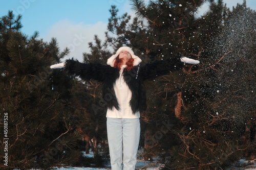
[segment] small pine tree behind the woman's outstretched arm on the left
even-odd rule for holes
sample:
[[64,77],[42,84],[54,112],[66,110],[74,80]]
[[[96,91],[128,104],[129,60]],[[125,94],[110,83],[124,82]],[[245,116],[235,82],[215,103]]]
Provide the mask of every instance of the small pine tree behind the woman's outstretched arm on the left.
[[[95,45],[89,43],[90,53],[83,53],[84,63],[100,63],[105,65],[111,56],[106,43],[95,35]],[[106,143],[106,108],[102,99],[102,83],[97,81],[79,81],[77,92],[72,99],[72,105],[76,107],[77,127],[94,153],[93,164],[101,167],[109,159],[108,144]],[[86,89],[86,90],[82,90]]]

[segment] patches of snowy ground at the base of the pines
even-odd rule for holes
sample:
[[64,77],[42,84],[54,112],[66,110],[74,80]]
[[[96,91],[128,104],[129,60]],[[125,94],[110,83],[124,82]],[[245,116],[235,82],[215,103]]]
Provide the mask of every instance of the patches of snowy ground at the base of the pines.
[[[146,169],[146,170],[158,170],[162,164],[156,162],[156,161],[144,161],[141,159],[141,152],[138,152],[138,160],[136,164],[136,169]],[[87,157],[93,157],[93,153],[91,154],[84,154],[84,156]],[[106,170],[111,169],[110,165],[104,167],[104,168],[95,168],[95,167],[61,167],[57,168],[57,170]],[[256,160],[252,162],[248,162],[246,160],[240,160],[237,162],[236,165],[233,165],[230,168],[227,168],[226,170],[256,170]]]

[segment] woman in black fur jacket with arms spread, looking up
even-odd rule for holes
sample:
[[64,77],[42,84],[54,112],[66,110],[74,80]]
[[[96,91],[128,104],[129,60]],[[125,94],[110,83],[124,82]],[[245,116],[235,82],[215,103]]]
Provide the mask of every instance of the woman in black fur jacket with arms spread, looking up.
[[107,132],[112,169],[135,169],[140,138],[140,112],[146,109],[143,81],[179,70],[184,63],[199,61],[176,56],[145,65],[130,47],[120,47],[107,65],[66,60],[51,68],[64,67],[83,80],[103,82],[102,97],[107,107]]

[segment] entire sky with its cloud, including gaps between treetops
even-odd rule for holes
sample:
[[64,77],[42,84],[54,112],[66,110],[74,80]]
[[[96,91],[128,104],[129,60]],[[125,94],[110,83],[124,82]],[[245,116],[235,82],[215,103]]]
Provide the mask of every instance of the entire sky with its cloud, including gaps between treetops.
[[[149,0],[145,0],[149,1]],[[247,7],[256,10],[256,1],[247,0]],[[243,0],[224,0],[232,9]],[[125,12],[134,16],[129,0],[0,0],[0,17],[12,10],[15,15],[22,14],[22,31],[31,36],[35,31],[40,38],[50,41],[56,37],[60,50],[70,48],[70,55],[82,61],[82,53],[89,52],[88,42],[95,34],[104,40],[104,32],[110,17],[111,5],[116,5],[119,14]],[[205,4],[199,15],[207,10]]]

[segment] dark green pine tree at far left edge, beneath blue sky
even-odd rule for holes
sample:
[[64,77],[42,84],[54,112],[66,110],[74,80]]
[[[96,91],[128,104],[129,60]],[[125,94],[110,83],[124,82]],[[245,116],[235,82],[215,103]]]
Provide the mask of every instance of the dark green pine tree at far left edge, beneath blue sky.
[[20,31],[20,19],[9,11],[0,22],[2,139],[4,114],[8,114],[8,144],[1,140],[8,151],[0,151],[1,162],[8,153],[8,166],[1,163],[1,169],[50,168],[75,162],[80,153],[72,148],[78,133],[67,100],[61,100],[61,93],[52,86],[51,79],[58,75],[49,67],[68,50],[60,53],[56,39],[49,43],[38,40],[37,32],[29,38]]

